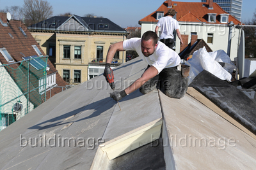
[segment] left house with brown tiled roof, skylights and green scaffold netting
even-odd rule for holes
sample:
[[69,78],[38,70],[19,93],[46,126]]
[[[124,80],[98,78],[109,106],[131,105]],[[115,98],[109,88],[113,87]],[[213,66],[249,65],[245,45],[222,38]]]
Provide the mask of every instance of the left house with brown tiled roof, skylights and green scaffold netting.
[[66,85],[22,21],[0,13],[0,131]]

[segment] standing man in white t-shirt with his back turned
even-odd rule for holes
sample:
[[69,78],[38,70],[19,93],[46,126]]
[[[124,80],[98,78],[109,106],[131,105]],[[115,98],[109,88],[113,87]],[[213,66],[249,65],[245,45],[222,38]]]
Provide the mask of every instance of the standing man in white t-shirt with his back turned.
[[173,43],[174,43],[173,30],[176,30],[177,32],[177,36],[180,39],[180,45],[181,46],[183,45],[183,41],[179,31],[179,23],[177,22],[177,20],[173,18],[175,14],[176,14],[176,11],[173,8],[168,10],[168,12],[166,13],[166,17],[162,17],[159,19],[155,29],[155,32],[157,34],[159,27],[161,27],[159,39],[161,42],[163,42],[165,45],[167,45],[171,49],[173,48]]

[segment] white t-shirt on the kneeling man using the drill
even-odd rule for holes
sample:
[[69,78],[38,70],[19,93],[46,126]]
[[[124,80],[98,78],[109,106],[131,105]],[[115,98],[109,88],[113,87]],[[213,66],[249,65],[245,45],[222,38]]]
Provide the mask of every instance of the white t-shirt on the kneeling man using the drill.
[[152,55],[145,57],[141,52],[141,38],[127,39],[123,43],[124,50],[135,50],[138,55],[150,66],[156,67],[158,74],[168,67],[175,67],[180,64],[179,55],[164,43],[158,41],[156,50]]

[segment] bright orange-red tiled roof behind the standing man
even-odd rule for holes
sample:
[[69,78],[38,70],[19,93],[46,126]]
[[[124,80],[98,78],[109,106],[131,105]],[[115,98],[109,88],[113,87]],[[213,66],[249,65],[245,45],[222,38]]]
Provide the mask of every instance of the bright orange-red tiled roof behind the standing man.
[[[175,4],[175,5],[174,5]],[[175,2],[172,1],[172,8],[177,11],[176,19],[180,22],[207,22],[208,20],[208,13],[216,13],[216,24],[220,23],[220,14],[227,13],[224,11],[218,4],[212,4],[212,10],[208,9],[207,3],[187,3],[187,2]],[[163,11],[164,15],[167,13],[168,8],[168,1],[164,1],[163,4],[156,10],[156,11]],[[156,11],[150,13],[145,18],[142,18],[139,22],[157,22],[156,20]],[[200,20],[200,21],[199,21]],[[228,22],[233,21],[234,24],[241,23],[232,15],[229,15]]]

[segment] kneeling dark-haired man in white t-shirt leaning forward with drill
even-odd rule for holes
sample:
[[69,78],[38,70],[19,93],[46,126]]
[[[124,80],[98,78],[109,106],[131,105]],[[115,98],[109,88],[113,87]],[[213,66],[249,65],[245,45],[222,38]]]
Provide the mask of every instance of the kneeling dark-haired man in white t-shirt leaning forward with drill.
[[[116,51],[136,50],[138,55],[147,62],[148,67],[138,80],[125,90],[113,92],[110,96],[119,101],[140,88],[140,92],[147,94],[156,89],[163,91],[169,97],[181,98],[188,90],[188,78],[184,78],[177,70],[180,64],[179,55],[168,46],[158,41],[157,34],[147,31],[142,38],[131,38],[109,46],[104,76],[113,74],[110,63]],[[106,78],[108,81],[108,79]]]

